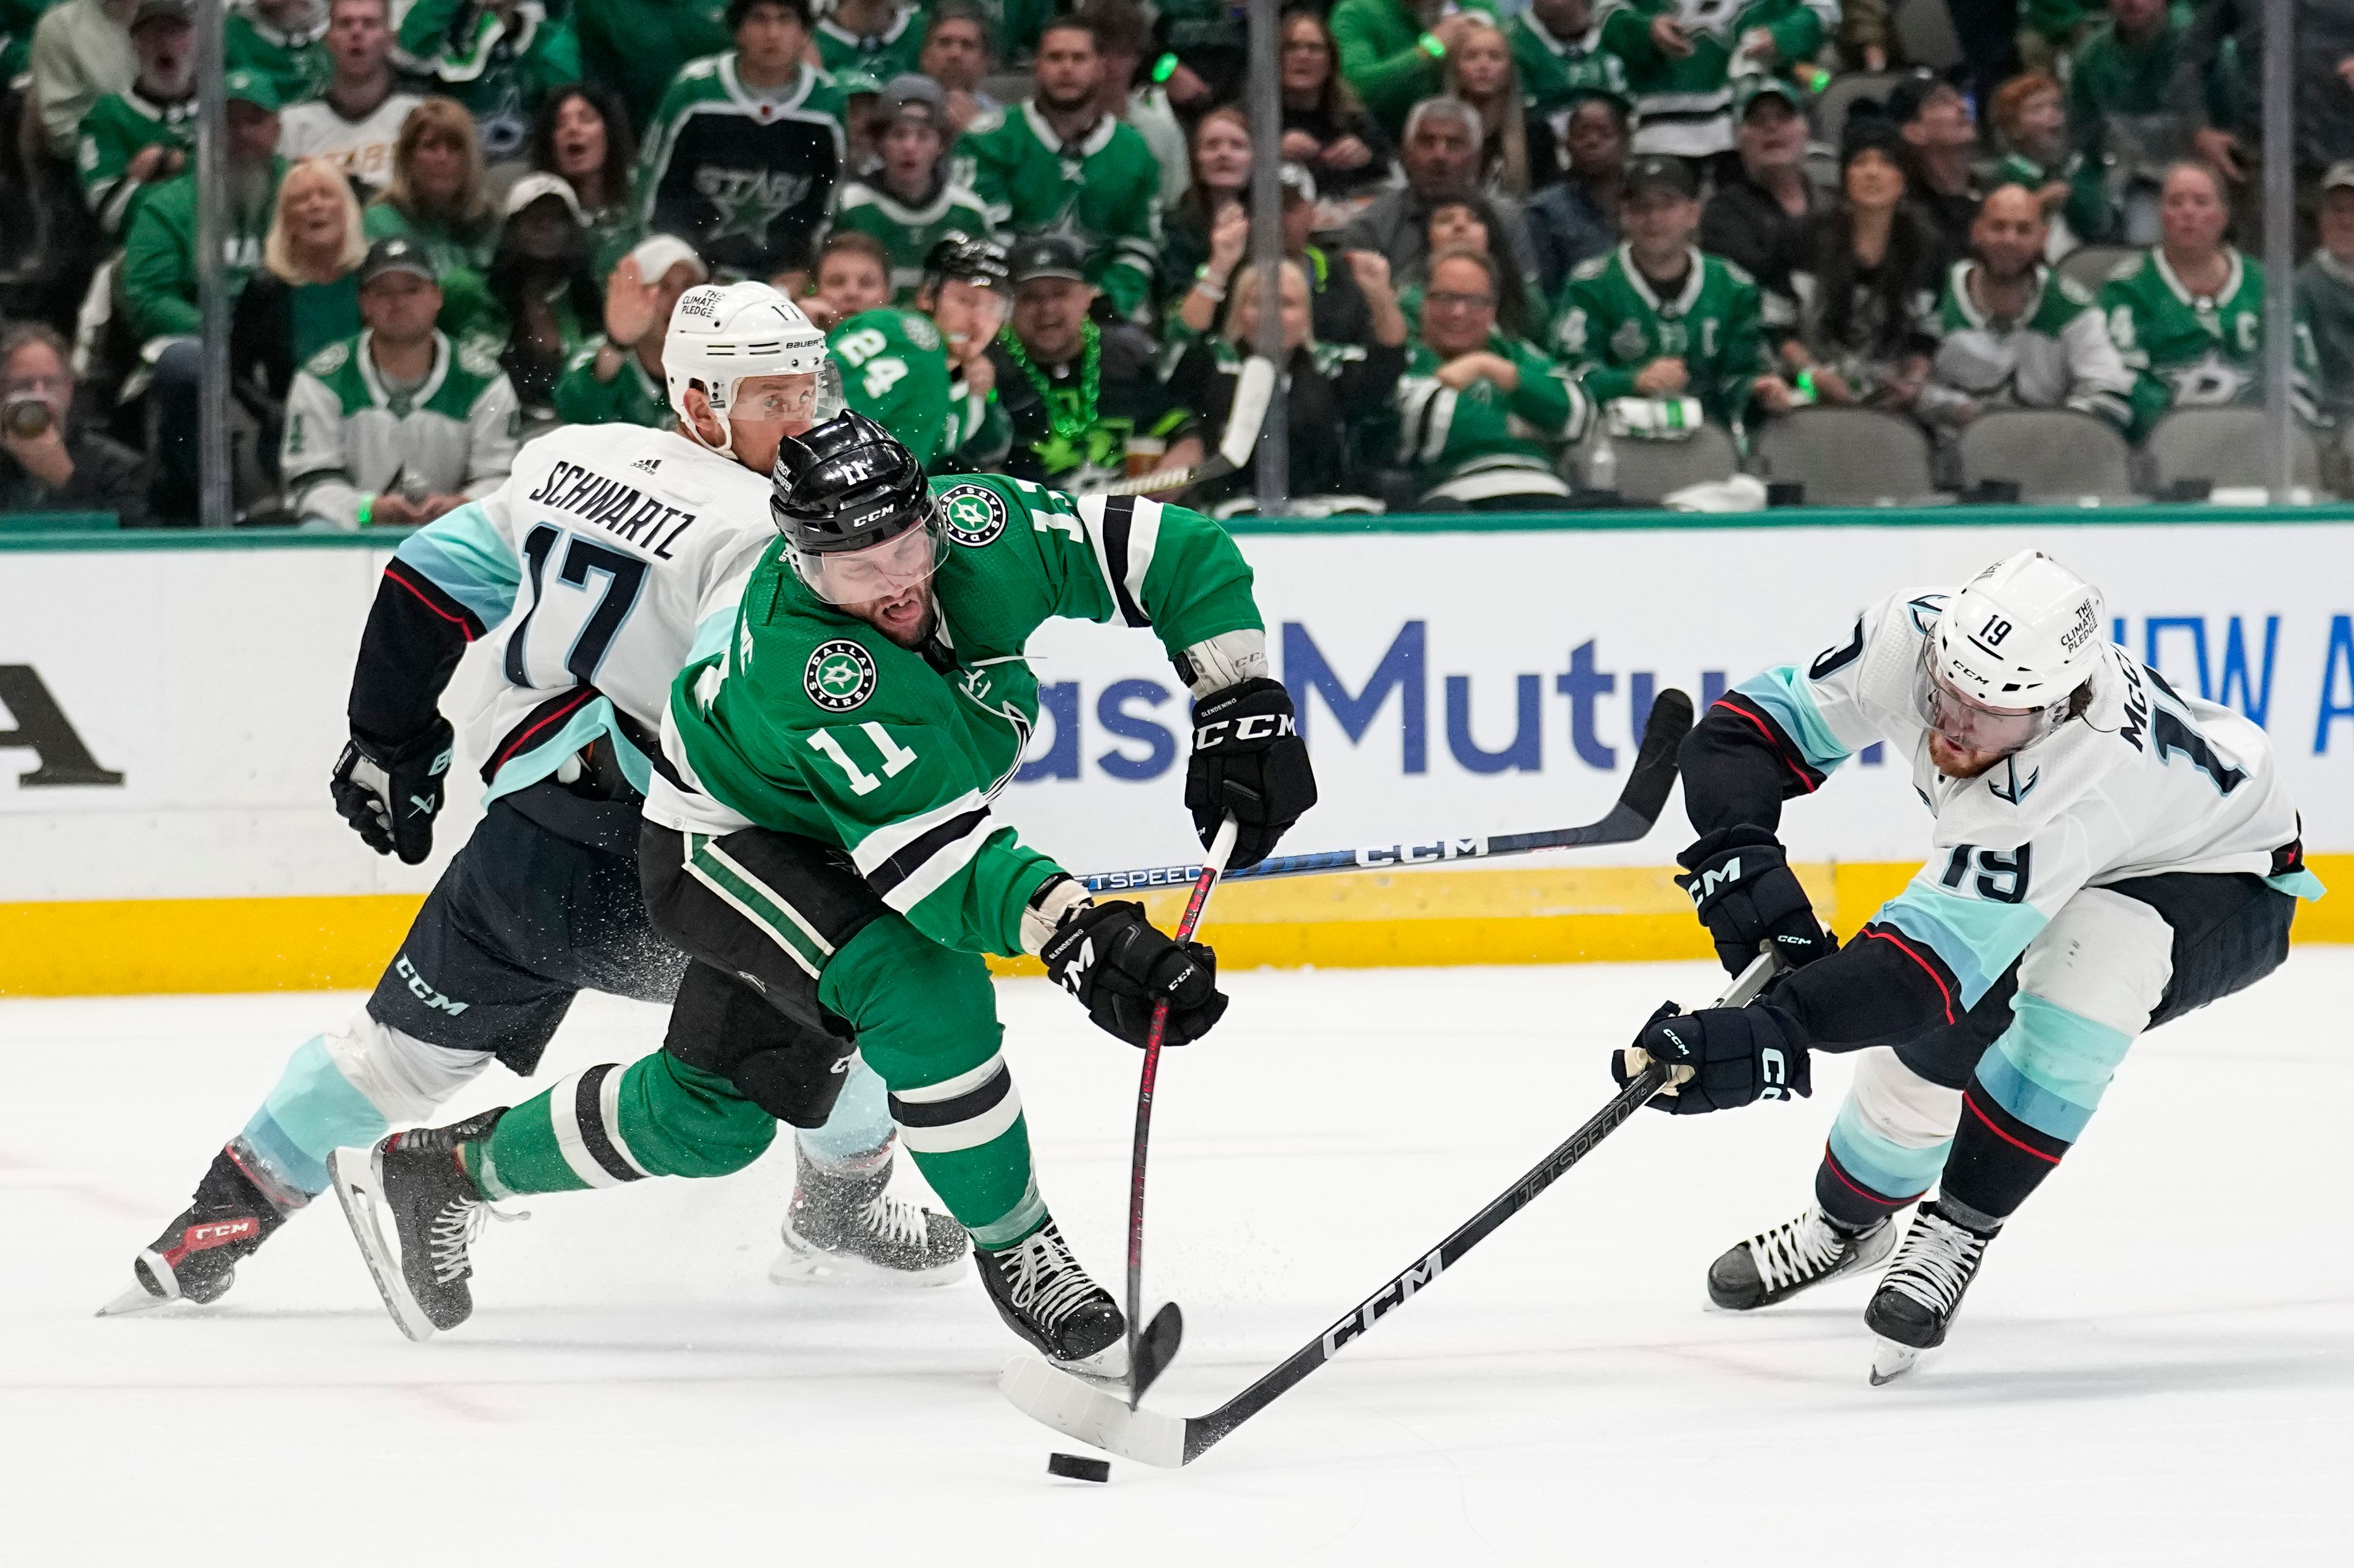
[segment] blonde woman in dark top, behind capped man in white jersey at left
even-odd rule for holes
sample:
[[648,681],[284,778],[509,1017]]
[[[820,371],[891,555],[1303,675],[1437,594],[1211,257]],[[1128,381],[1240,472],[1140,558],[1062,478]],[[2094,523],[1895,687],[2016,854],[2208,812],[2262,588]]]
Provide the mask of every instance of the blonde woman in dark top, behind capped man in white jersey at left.
[[261,266],[238,292],[228,325],[228,374],[238,398],[273,433],[294,370],[351,337],[360,323],[360,202],[332,158],[301,158],[278,181]]

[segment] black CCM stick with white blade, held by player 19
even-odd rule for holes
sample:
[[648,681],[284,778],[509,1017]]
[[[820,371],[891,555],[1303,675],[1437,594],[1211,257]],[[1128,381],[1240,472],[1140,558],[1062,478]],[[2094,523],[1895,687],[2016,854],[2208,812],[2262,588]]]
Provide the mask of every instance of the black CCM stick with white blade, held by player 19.
[[[1725,986],[1725,994],[1718,996],[1714,1005],[1740,1008],[1766,989],[1773,970],[1775,956],[1758,954],[1758,958],[1742,970],[1730,986]],[[1462,1262],[1464,1253],[1476,1248],[1499,1224],[1528,1208],[1530,1198],[1551,1187],[1561,1180],[1561,1172],[1591,1154],[1598,1142],[1610,1137],[1629,1116],[1643,1109],[1643,1102],[1667,1088],[1676,1074],[1688,1071],[1690,1069],[1669,1069],[1662,1062],[1643,1067],[1643,1071],[1638,1071],[1627,1088],[1610,1099],[1610,1104],[1596,1111],[1587,1125],[1570,1132],[1558,1149],[1537,1161],[1535,1170],[1507,1187],[1502,1196],[1471,1215],[1436,1248],[1424,1253],[1403,1271],[1394,1274],[1389,1283],[1342,1314],[1342,1318],[1318,1337],[1292,1351],[1283,1366],[1266,1373],[1208,1415],[1130,1410],[1113,1394],[1106,1394],[1097,1384],[1073,1377],[1071,1373],[1057,1373],[1038,1356],[1015,1356],[1008,1361],[1003,1377],[998,1377],[998,1391],[1003,1391],[1005,1398],[1010,1398],[1024,1415],[1045,1422],[1055,1431],[1073,1436],[1080,1443],[1102,1448],[1104,1453],[1116,1453],[1123,1460],[1137,1460],[1139,1464],[1158,1464],[1163,1469],[1191,1464],[1208,1453],[1212,1443],[1266,1406],[1276,1403],[1276,1398],[1290,1391],[1302,1377],[1337,1356],[1344,1344],[1372,1333],[1375,1323],[1410,1302],[1417,1290],[1427,1288],[1443,1271]]]

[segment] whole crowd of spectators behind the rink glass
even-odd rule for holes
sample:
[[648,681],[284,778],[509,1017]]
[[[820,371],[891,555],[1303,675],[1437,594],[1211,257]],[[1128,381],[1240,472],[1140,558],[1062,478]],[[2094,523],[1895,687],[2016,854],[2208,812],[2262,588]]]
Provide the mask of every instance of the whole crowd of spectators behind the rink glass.
[[[1904,7],[1956,57],[1907,66]],[[1224,0],[235,0],[219,191],[193,0],[0,0],[0,509],[193,520],[214,396],[247,520],[431,520],[541,428],[666,421],[669,308],[732,278],[798,297],[843,396],[944,471],[1191,469],[1274,311],[1309,504],[1594,504],[1627,443],[1747,454],[1815,405],[1911,424],[1951,483],[1994,410],[2142,443],[2260,400],[2267,158],[2293,417],[2335,452],[2354,7],[2293,0],[2288,146],[2265,12],[1295,2],[1262,278]],[[944,271],[958,240],[1003,250]]]

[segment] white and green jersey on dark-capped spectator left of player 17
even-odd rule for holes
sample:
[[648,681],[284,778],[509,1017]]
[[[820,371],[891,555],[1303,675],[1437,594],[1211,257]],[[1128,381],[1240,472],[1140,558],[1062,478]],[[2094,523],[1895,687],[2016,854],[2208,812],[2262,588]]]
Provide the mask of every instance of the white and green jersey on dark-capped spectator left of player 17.
[[523,410],[499,360],[435,332],[424,386],[395,396],[377,374],[370,337],[320,348],[287,391],[278,471],[294,513],[358,527],[384,490],[480,499],[506,483]]

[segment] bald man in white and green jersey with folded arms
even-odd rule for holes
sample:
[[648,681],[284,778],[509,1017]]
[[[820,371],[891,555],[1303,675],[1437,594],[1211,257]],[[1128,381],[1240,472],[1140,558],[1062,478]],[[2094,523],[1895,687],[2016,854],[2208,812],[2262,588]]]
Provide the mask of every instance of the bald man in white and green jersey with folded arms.
[[1954,433],[1994,407],[2074,407],[2133,426],[2133,372],[2093,294],[2043,264],[2043,205],[1996,186],[1977,210],[1973,254],[1947,273],[1937,358],[1914,412]]

